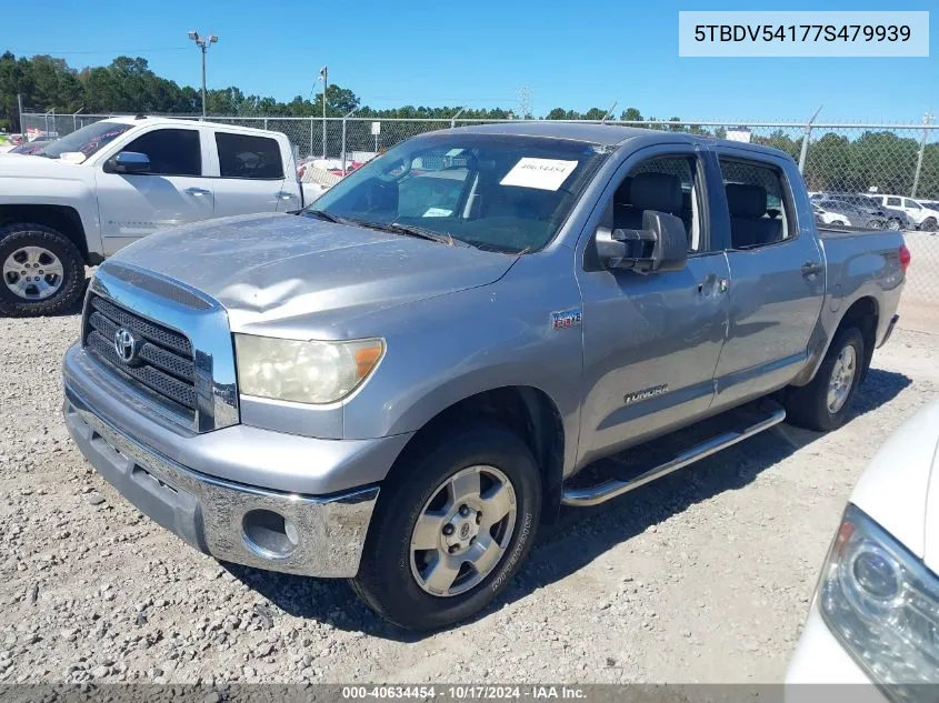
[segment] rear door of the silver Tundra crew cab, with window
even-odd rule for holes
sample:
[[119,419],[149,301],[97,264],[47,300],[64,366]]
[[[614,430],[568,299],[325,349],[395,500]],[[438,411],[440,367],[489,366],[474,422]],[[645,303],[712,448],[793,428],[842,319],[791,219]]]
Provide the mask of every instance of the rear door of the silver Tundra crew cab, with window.
[[[726,205],[715,212],[730,265],[730,328],[715,409],[786,385],[805,365],[825,294],[825,259],[795,164],[716,147]],[[802,203],[801,205],[799,203]]]

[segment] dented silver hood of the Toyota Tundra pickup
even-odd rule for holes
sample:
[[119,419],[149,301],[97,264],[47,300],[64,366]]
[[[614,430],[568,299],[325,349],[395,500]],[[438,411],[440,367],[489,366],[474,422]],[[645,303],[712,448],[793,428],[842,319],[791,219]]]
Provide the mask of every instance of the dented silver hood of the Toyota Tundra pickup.
[[341,337],[356,317],[486,285],[516,260],[290,214],[187,224],[111,259],[211,295],[234,332],[292,338]]

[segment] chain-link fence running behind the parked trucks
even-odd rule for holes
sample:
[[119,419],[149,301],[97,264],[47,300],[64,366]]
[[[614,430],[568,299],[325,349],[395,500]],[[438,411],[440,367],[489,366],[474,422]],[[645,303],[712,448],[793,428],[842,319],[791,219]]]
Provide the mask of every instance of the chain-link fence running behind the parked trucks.
[[[107,119],[106,114],[23,113],[29,140],[63,137]],[[198,120],[198,116],[168,116]],[[299,162],[339,175],[376,153],[433,130],[479,124],[480,120],[408,120],[362,117],[292,118],[211,116],[212,122],[283,132]],[[891,227],[906,231],[912,252],[906,298],[928,304],[939,293],[939,125],[793,122],[608,121],[662,131],[690,132],[766,144],[789,153],[829,222]],[[858,194],[877,202],[848,202]],[[889,199],[887,198],[889,197]],[[858,210],[868,212],[858,214]],[[899,213],[897,211],[900,211]],[[871,215],[871,212],[879,214]],[[835,213],[835,214],[831,214]],[[841,213],[841,214],[839,214]],[[900,214],[902,213],[902,214]],[[843,217],[842,217],[843,215]],[[832,219],[833,218],[833,219]]]

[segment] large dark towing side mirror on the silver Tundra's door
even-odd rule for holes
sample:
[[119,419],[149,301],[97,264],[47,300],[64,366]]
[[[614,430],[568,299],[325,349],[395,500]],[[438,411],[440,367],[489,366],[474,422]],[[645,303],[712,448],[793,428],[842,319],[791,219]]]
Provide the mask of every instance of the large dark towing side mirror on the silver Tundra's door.
[[688,234],[673,214],[646,210],[641,230],[598,229],[597,253],[608,269],[679,271],[688,260]]

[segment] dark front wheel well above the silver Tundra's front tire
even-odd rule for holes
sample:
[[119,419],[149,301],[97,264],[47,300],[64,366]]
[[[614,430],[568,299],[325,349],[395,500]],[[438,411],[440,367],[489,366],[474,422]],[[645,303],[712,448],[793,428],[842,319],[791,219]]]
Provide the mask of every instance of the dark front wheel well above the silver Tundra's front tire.
[[401,450],[386,481],[407,471],[409,458],[432,436],[472,418],[495,420],[518,434],[538,461],[542,478],[542,522],[557,516],[561,503],[565,426],[555,401],[531,385],[503,385],[469,395],[428,420]]

